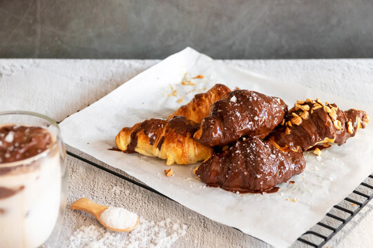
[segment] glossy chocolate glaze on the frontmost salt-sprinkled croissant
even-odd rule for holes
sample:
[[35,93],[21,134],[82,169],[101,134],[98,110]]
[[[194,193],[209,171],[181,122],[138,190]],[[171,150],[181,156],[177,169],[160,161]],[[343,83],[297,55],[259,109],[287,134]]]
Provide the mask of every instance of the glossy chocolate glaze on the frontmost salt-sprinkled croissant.
[[298,152],[283,152],[257,137],[238,140],[204,161],[195,175],[209,186],[238,192],[266,192],[305,169]]

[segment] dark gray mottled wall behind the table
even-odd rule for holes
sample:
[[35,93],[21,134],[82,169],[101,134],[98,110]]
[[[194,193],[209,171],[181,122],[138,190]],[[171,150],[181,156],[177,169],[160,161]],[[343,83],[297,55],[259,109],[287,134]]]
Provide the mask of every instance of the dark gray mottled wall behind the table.
[[0,0],[0,57],[373,57],[370,0]]

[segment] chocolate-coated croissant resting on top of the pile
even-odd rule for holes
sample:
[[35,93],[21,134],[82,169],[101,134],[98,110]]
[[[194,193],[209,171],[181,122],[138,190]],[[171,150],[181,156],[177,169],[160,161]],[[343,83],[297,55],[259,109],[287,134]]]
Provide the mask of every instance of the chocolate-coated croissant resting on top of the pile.
[[287,105],[277,97],[234,90],[211,106],[194,139],[203,145],[227,145],[242,136],[264,138],[283,121]]

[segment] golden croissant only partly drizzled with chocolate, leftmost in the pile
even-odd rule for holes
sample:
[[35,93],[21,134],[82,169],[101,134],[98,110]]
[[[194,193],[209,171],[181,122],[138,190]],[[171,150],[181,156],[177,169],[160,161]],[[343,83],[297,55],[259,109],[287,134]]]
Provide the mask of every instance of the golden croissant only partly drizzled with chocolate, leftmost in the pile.
[[211,147],[193,140],[199,125],[184,116],[171,120],[150,119],[124,127],[115,137],[117,147],[126,152],[166,159],[166,165],[187,165],[211,156]]

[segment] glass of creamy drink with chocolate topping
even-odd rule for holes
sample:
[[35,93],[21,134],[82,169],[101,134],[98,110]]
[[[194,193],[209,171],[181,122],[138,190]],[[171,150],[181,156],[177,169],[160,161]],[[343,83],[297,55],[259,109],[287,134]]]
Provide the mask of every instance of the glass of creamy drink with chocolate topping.
[[[30,132],[30,127],[42,127],[34,129],[36,136],[39,135],[37,130],[47,136],[50,134],[45,149],[37,149],[39,153],[23,159],[20,156],[17,158],[21,160],[11,162],[6,158],[19,147],[15,137],[21,141],[27,133],[9,132],[11,135],[4,133],[0,137],[0,152],[3,152],[0,161],[0,247],[39,247],[53,229],[61,225],[66,207],[66,151],[59,127],[47,116],[23,111],[0,112],[0,130],[2,127],[14,127],[15,130],[25,127],[26,132]],[[15,143],[6,143],[12,141]],[[35,145],[35,142],[30,144]]]

